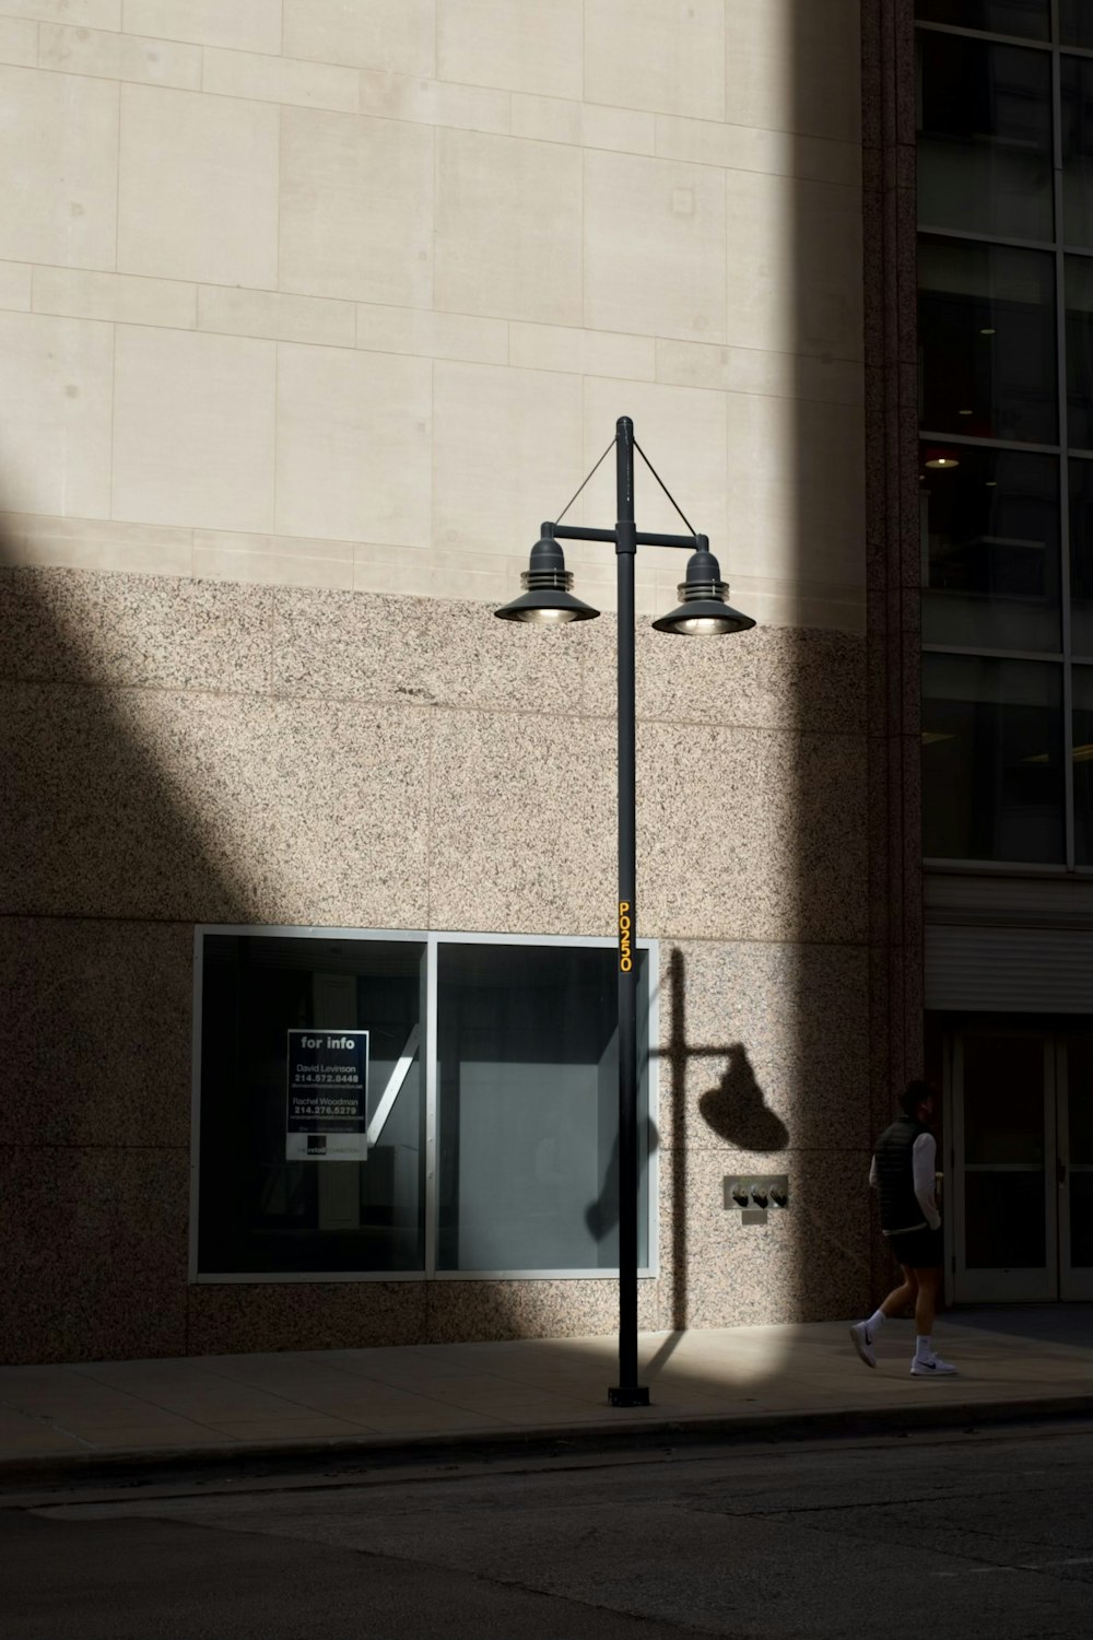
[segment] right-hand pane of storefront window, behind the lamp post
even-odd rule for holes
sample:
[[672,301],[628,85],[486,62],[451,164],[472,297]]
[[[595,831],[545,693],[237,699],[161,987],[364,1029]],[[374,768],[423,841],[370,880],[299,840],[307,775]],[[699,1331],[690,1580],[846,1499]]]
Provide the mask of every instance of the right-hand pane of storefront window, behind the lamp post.
[[[644,953],[639,964],[644,1189]],[[615,951],[441,945],[438,984],[438,1268],[616,1268]],[[647,1200],[641,1225],[646,1263]]]

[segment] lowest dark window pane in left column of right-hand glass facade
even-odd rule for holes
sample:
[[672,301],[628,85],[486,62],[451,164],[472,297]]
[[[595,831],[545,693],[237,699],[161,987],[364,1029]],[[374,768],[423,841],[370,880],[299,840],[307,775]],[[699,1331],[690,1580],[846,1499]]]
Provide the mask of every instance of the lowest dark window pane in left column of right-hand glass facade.
[[923,840],[936,859],[1065,859],[1060,666],[923,656]]

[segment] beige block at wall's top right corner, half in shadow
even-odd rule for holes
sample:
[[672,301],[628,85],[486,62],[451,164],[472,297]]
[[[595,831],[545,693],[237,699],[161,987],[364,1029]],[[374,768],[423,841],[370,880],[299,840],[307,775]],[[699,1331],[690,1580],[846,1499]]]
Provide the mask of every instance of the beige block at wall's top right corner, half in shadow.
[[726,120],[860,141],[859,0],[732,0],[724,21]]

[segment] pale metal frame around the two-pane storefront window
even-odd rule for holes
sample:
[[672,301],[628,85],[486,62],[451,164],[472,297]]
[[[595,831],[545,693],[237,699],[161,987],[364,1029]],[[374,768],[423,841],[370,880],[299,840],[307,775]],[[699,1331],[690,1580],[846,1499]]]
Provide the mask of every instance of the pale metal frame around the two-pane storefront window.
[[[361,1271],[243,1271],[226,1274],[223,1271],[203,1273],[198,1269],[198,1217],[202,1199],[202,1002],[205,979],[205,936],[236,935],[274,940],[375,940],[390,943],[413,943],[424,946],[426,963],[426,1009],[423,1018],[420,1059],[424,1082],[424,1268],[423,1269],[361,1269]],[[613,951],[613,938],[595,935],[552,935],[552,933],[469,933],[464,930],[423,930],[423,928],[324,928],[324,927],[292,927],[267,923],[197,923],[193,928],[193,1038],[192,1038],[192,1073],[190,1073],[190,1225],[187,1282],[188,1286],[275,1286],[305,1282],[403,1282],[403,1281],[618,1281],[618,1266],[595,1269],[438,1269],[438,951],[441,945],[523,945],[523,946],[559,946],[562,950],[603,950]],[[660,1199],[660,1146],[654,1135],[659,1133],[660,1118],[660,941],[637,940],[639,951],[646,951],[646,984],[649,1000],[649,1045],[647,1045],[647,1081],[649,1081],[649,1151],[644,1179],[639,1186],[639,1210],[647,1214],[647,1250],[649,1260],[639,1266],[642,1279],[655,1279],[660,1274],[660,1240],[659,1240],[659,1199]],[[642,1069],[642,1046],[637,1045],[639,1076]],[[644,1194],[644,1200],[642,1200]]]

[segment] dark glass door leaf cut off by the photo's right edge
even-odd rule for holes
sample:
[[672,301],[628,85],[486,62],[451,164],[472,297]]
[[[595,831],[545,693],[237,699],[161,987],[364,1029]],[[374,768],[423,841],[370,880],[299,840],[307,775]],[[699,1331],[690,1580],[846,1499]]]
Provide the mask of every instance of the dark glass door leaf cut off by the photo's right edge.
[[1093,1036],[1059,1043],[1059,1297],[1093,1299]]

